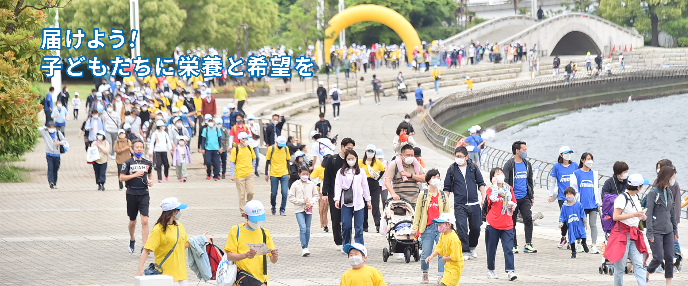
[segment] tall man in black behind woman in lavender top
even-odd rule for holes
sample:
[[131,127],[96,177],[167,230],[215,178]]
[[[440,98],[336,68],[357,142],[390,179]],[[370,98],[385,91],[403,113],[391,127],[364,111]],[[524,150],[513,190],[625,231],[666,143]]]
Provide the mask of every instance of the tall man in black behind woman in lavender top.
[[332,235],[334,235],[334,244],[337,246],[337,250],[341,250],[343,237],[342,237],[342,224],[341,224],[341,210],[334,207],[334,179],[337,176],[337,172],[342,168],[345,162],[346,152],[348,150],[354,149],[356,142],[353,139],[345,138],[342,139],[341,151],[339,154],[334,154],[332,157],[327,159],[325,162],[325,175],[323,177],[323,202],[330,203],[330,217],[332,217]]

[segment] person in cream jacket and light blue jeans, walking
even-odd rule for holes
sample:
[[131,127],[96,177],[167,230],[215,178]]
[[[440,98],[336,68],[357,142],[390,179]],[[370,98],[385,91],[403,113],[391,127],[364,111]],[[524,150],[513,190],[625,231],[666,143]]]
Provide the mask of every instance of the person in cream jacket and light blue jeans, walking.
[[299,180],[289,188],[287,200],[294,204],[294,212],[299,222],[299,239],[301,239],[301,256],[310,254],[308,240],[310,239],[310,221],[313,217],[313,205],[318,203],[318,187],[310,180],[310,169],[299,167]]

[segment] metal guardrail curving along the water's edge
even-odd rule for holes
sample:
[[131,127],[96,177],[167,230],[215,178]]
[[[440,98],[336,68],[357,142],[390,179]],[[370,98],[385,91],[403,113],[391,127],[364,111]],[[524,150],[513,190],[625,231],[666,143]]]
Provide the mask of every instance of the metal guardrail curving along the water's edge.
[[[654,78],[688,78],[688,68],[682,69],[626,69],[624,73],[612,76],[596,78],[594,76],[586,75],[584,77],[577,77],[572,84],[563,82],[560,77],[546,77],[536,80],[528,80],[524,82],[513,82],[512,84],[504,84],[501,86],[494,86],[491,88],[484,88],[474,93],[460,92],[453,93],[447,97],[439,99],[435,104],[429,107],[427,116],[422,121],[423,132],[427,139],[440,150],[453,154],[455,145],[464,138],[462,134],[453,132],[440,126],[435,121],[434,116],[439,115],[451,108],[459,106],[471,106],[477,102],[491,100],[503,97],[516,97],[526,93],[535,93],[538,91],[552,91],[559,88],[569,88],[572,86],[583,86],[587,84],[600,84],[607,81],[616,80],[649,80]],[[481,154],[480,164],[481,169],[489,171],[493,167],[502,167],[507,160],[513,158],[513,154],[508,151],[499,150],[490,146],[485,146]],[[533,182],[536,187],[547,188],[549,174],[552,171],[553,163],[549,163],[536,158],[528,158],[528,162],[533,165]],[[601,188],[604,182],[610,176],[599,175],[599,187]],[[649,188],[648,188],[649,189]],[[645,189],[647,191],[647,189]],[[641,194],[644,195],[645,192]],[[686,198],[688,190],[681,189],[681,198]],[[683,199],[681,200],[683,201]],[[682,207],[682,217],[688,219],[688,210]]]

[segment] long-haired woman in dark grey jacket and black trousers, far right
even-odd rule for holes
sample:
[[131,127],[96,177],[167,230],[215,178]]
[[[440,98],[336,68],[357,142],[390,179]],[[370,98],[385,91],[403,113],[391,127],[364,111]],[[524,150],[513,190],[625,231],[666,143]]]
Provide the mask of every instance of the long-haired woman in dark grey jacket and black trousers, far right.
[[669,187],[676,183],[676,169],[664,166],[657,174],[652,189],[647,192],[647,241],[652,249],[652,261],[647,265],[647,280],[661,263],[664,263],[664,278],[671,285],[674,278],[674,241],[678,240],[678,223],[674,213],[674,194]]

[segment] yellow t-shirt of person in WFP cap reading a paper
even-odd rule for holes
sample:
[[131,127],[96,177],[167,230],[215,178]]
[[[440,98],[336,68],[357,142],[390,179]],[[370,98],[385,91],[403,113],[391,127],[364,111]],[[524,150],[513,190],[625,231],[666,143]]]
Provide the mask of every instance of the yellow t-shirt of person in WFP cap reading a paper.
[[[245,223],[244,223],[245,224]],[[237,226],[232,226],[227,235],[227,244],[224,245],[224,251],[233,253],[246,253],[248,252],[248,245],[246,243],[263,243],[263,232],[259,229],[248,230],[244,227],[244,224],[239,224],[239,241],[237,241]],[[272,241],[270,237],[270,232],[265,230],[265,241],[266,246],[270,249],[275,249],[275,242]],[[271,257],[272,253],[268,253],[268,257]],[[264,256],[256,256],[252,259],[241,259],[237,261],[237,268],[244,270],[257,278],[261,282],[268,282],[268,276],[263,276],[263,259]],[[265,258],[267,259],[267,257]]]

